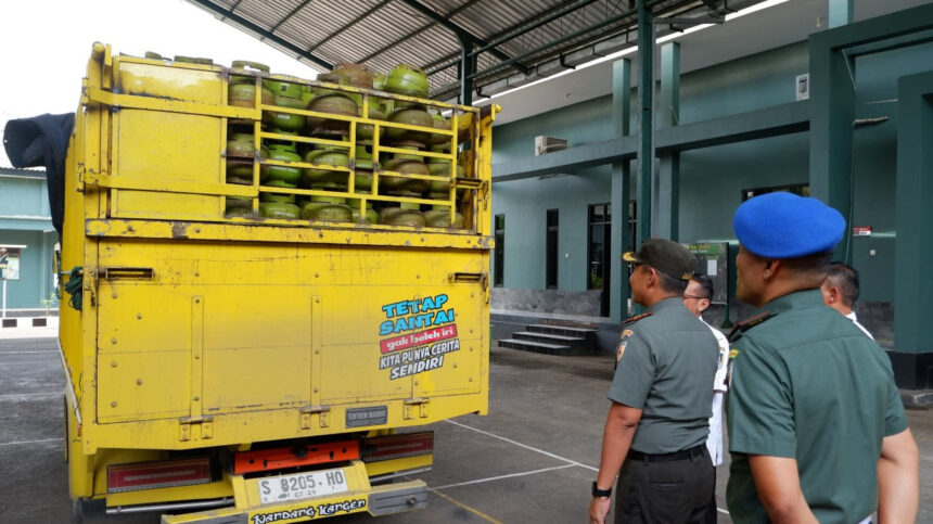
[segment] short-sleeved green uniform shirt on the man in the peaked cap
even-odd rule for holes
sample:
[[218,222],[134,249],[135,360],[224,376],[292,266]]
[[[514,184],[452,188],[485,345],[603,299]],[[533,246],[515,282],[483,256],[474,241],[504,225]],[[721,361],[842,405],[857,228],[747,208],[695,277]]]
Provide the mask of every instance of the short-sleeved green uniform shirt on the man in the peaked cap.
[[642,410],[631,449],[668,453],[706,442],[719,346],[678,297],[657,302],[619,342],[609,398]]

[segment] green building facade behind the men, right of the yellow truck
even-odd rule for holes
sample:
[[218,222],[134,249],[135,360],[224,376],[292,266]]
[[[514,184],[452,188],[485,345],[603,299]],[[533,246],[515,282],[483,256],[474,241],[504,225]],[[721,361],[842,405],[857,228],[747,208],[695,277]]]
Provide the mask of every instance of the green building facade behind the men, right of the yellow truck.
[[[734,298],[732,214],[751,195],[789,190],[846,217],[851,230],[835,257],[861,273],[859,319],[892,350],[902,384],[929,386],[933,347],[920,340],[919,316],[933,314],[933,279],[912,261],[933,248],[922,237],[933,226],[922,204],[933,179],[924,142],[933,43],[911,39],[929,30],[921,15],[933,11],[823,30],[682,76],[676,42],[663,44],[647,192],[634,159],[640,112],[629,108],[638,94],[626,84],[627,60],[614,64],[613,95],[497,127],[493,305],[500,319],[513,310],[585,316],[612,333],[632,312],[618,255],[662,235],[730,245],[728,299],[713,320],[741,320],[751,309]],[[808,85],[800,92],[802,78]],[[627,126],[621,115],[631,115]],[[570,146],[535,156],[536,136]],[[611,350],[611,334],[601,340]]]

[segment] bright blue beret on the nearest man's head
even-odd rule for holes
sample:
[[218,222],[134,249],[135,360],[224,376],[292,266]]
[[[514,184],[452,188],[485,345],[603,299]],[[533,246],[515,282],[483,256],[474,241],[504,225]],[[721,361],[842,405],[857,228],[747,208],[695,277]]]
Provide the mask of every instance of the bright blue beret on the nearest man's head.
[[832,250],[845,219],[817,199],[779,191],[745,201],[732,217],[745,250],[767,258],[795,258]]

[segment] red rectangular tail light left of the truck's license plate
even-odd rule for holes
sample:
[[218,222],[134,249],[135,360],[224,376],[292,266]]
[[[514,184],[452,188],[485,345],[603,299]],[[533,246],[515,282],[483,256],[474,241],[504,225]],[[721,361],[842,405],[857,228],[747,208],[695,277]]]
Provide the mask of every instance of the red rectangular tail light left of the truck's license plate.
[[210,459],[167,460],[107,467],[107,493],[190,486],[210,482]]

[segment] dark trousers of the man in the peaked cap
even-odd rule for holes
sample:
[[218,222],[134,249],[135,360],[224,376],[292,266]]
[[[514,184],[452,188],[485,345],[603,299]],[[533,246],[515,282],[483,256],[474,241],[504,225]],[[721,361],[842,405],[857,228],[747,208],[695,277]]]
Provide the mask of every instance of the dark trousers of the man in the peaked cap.
[[705,522],[716,486],[706,446],[681,460],[626,459],[616,484],[615,523]]

